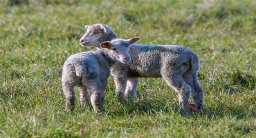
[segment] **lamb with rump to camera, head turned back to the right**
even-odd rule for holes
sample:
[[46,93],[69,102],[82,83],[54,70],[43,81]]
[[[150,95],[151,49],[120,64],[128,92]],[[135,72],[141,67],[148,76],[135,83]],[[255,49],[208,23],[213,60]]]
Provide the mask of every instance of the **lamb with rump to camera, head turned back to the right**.
[[86,108],[91,99],[93,110],[101,112],[111,66],[117,61],[129,63],[131,61],[129,45],[139,39],[135,37],[127,40],[105,41],[100,43],[101,49],[98,51],[82,52],[68,57],[62,72],[62,89],[66,97],[66,108],[74,110],[75,92],[73,88],[78,86],[82,107]]

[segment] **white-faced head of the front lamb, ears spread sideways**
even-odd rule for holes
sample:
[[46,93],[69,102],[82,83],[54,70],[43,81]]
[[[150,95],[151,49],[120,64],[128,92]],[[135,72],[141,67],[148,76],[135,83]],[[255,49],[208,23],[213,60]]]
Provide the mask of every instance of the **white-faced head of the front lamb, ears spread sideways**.
[[131,56],[129,55],[129,46],[136,43],[140,38],[134,37],[132,39],[113,39],[112,41],[105,41],[100,43],[101,48],[107,48],[109,57],[121,63],[129,63]]

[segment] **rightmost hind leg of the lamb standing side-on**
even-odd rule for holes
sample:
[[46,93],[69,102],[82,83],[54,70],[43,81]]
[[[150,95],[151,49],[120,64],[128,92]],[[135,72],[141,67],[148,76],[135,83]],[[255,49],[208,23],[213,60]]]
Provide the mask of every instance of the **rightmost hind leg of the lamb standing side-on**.
[[192,89],[192,100],[198,112],[201,112],[201,110],[203,110],[203,89],[197,81],[197,73],[193,70],[185,72],[183,79],[188,83],[188,85],[190,85]]

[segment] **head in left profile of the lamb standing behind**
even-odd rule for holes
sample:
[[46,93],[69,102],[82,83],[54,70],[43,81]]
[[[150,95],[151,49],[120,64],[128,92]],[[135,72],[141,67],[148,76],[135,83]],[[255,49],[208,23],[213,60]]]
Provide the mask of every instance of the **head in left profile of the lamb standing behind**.
[[116,38],[116,34],[104,24],[94,24],[93,26],[84,26],[87,32],[80,39],[82,46],[97,46],[100,48],[100,43],[104,41],[111,41]]

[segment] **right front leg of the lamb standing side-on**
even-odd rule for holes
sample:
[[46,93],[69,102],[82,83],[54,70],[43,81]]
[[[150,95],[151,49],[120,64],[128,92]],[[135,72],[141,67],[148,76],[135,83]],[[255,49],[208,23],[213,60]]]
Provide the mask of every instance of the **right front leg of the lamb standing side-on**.
[[138,86],[138,78],[128,79],[127,86],[125,89],[125,97],[127,97],[127,99],[132,99],[132,100],[135,99],[137,86]]

